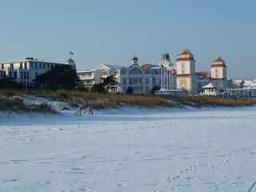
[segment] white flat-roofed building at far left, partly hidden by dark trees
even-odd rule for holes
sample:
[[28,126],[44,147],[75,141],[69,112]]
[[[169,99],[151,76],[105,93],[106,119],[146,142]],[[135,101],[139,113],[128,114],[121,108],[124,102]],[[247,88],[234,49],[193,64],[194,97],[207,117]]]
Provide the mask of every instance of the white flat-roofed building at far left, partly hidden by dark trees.
[[72,59],[67,60],[66,64],[64,64],[26,58],[18,61],[0,62],[0,70],[4,70],[7,77],[14,78],[15,82],[25,86],[30,85],[39,74],[46,73],[47,70],[50,70],[55,65],[70,65],[75,68],[75,63]]

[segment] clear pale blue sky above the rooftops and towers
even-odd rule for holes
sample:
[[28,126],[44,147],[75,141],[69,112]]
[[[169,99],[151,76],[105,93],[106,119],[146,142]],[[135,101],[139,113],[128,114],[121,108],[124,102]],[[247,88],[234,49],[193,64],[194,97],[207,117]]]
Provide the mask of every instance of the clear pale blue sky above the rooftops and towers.
[[187,47],[197,71],[218,55],[228,78],[256,78],[254,0],[1,0],[0,61],[72,58],[77,70],[158,64]]

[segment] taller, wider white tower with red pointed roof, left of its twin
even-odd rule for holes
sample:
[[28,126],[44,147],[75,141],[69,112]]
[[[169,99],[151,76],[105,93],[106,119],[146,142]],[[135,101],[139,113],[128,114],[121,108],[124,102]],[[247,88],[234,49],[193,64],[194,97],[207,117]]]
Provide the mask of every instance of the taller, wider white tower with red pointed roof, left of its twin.
[[177,89],[186,90],[188,94],[197,94],[194,55],[184,48],[176,59]]

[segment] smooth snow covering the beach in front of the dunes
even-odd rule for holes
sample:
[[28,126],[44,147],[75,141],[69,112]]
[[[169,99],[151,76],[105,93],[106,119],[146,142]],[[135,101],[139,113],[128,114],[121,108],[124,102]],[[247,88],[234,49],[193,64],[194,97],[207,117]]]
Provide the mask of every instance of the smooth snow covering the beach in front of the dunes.
[[256,106],[0,113],[0,191],[256,191]]

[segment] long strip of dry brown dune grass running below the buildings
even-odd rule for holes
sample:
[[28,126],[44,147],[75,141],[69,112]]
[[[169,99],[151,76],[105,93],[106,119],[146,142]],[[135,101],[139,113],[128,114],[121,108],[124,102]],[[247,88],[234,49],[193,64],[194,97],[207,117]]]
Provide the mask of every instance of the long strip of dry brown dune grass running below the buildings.
[[[2,94],[8,97],[25,95],[24,90],[1,90]],[[249,106],[254,101],[215,98],[207,96],[171,96],[154,94],[98,94],[79,91],[53,91],[53,90],[29,90],[28,94],[39,97],[53,98],[60,102],[66,102],[70,106],[90,106],[93,109],[102,109],[118,106],[141,106],[153,107],[182,107],[182,106]],[[1,106],[0,106],[1,107]],[[3,108],[3,107],[2,107]],[[1,109],[1,108],[0,108]]]

